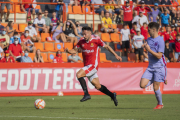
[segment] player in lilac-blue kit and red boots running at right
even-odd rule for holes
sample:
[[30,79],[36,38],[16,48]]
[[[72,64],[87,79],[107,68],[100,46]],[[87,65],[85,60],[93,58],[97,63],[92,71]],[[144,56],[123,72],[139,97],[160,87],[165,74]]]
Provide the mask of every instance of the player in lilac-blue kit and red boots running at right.
[[164,107],[159,86],[161,82],[165,82],[167,74],[164,57],[165,44],[163,38],[158,35],[158,31],[158,23],[149,23],[148,32],[150,37],[144,44],[144,48],[148,51],[149,65],[140,81],[141,88],[146,88],[153,83],[155,96],[158,101],[158,104],[154,109],[162,109]]

